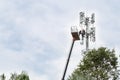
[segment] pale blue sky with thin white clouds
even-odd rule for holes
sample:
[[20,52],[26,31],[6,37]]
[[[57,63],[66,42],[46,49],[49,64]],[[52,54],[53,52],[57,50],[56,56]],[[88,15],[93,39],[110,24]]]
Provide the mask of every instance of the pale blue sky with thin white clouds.
[[[120,53],[120,0],[0,0],[0,74],[26,71],[30,80],[61,80],[79,12],[95,13],[96,42]],[[66,78],[82,59],[76,41]]]

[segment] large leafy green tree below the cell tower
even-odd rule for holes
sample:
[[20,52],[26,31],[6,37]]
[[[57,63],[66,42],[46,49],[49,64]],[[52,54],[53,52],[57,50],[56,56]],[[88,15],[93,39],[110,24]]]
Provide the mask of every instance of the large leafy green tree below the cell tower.
[[105,47],[92,49],[84,54],[78,68],[68,80],[117,80],[117,68],[118,61],[114,50]]

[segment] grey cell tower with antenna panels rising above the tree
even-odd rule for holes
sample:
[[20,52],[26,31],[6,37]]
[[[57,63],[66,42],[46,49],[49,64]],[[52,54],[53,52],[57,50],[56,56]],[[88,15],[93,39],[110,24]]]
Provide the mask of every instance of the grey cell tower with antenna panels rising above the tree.
[[[84,40],[86,40],[86,51],[89,49],[89,41],[95,42],[95,14],[92,13],[91,17],[85,16],[84,12],[80,12],[80,27],[81,30],[79,32],[80,37],[82,38],[81,44],[84,44]],[[90,40],[89,40],[90,38]]]

